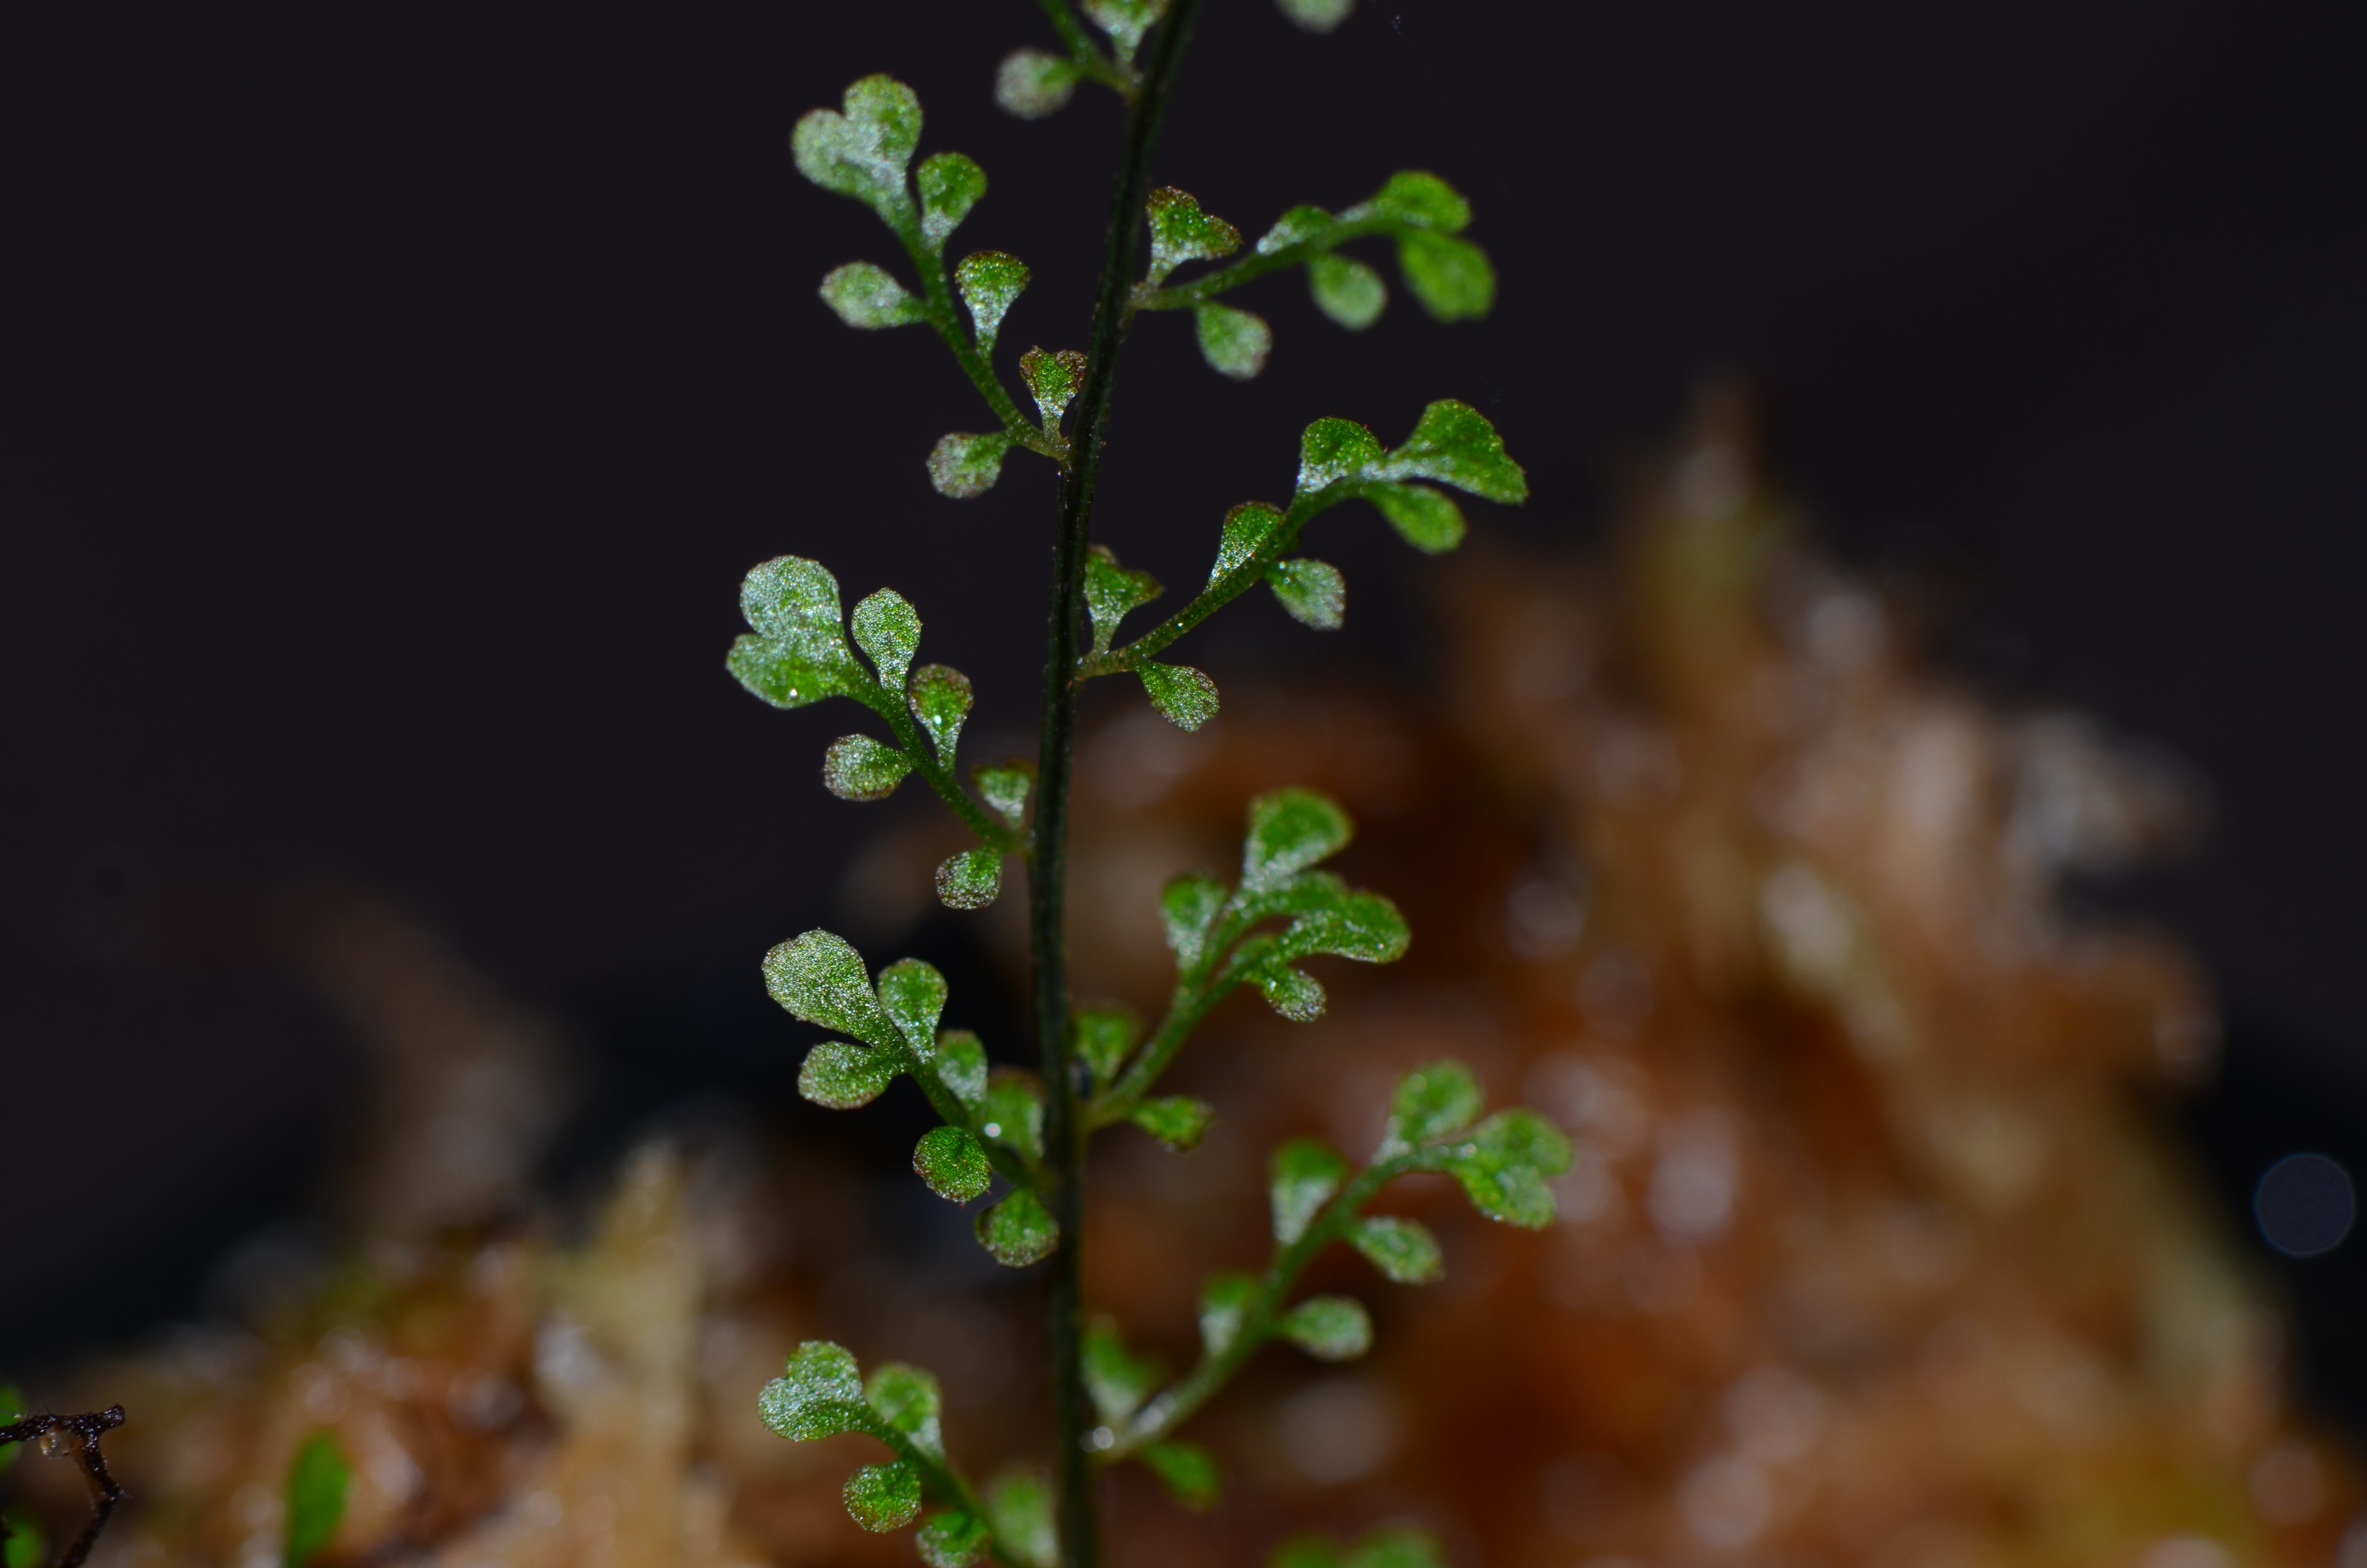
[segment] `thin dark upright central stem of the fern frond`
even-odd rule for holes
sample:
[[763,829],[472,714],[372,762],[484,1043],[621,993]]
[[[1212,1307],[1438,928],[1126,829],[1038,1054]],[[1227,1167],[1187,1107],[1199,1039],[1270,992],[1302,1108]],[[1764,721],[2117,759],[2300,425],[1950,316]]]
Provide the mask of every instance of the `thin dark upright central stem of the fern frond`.
[[1051,1350],[1053,1476],[1063,1568],[1098,1568],[1101,1521],[1094,1506],[1094,1464],[1084,1435],[1096,1426],[1084,1388],[1084,1144],[1077,1068],[1068,1030],[1068,793],[1077,739],[1077,644],[1084,621],[1084,559],[1094,523],[1094,481],[1117,384],[1134,263],[1141,251],[1143,201],[1150,197],[1150,152],[1157,144],[1167,95],[1184,64],[1198,0],[1174,0],[1150,40],[1150,64],[1127,107],[1127,147],[1110,192],[1110,227],[1101,256],[1094,332],[1084,351],[1075,433],[1060,467],[1060,509],[1051,547],[1051,625],[1044,640],[1044,744],[1037,758],[1034,857],[1027,874],[1027,936],[1034,950],[1034,1026],[1044,1061],[1046,1177],[1060,1248],[1051,1255],[1046,1329]]

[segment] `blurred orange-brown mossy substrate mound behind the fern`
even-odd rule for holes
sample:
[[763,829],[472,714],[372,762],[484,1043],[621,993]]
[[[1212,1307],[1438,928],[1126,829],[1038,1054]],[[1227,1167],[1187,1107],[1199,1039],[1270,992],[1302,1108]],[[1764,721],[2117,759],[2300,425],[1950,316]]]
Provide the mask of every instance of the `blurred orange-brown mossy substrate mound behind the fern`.
[[[1387,1518],[1463,1568],[2334,1561],[2358,1469],[2296,1424],[2279,1319],[2152,1113],[2211,1071],[2211,990],[2059,900],[2192,831],[2192,789],[2085,718],[1924,675],[1801,547],[1735,396],[1628,514],[1607,566],[1451,576],[1439,711],[1228,692],[1198,737],[1141,713],[1082,748],[1086,995],[1160,1002],[1157,886],[1226,869],[1276,784],[1340,796],[1342,874],[1415,933],[1392,969],[1323,971],[1314,1026],[1217,1016],[1174,1075],[1221,1111],[1200,1151],[1112,1135],[1089,1289],[1136,1343],[1184,1364],[1200,1277],[1264,1255],[1264,1153],[1368,1149],[1418,1061],[1470,1061],[1579,1146],[1539,1234],[1394,1189],[1446,1284],[1318,1265],[1373,1305],[1375,1352],[1269,1350],[1195,1431],[1224,1502],[1193,1518],[1120,1473],[1117,1561]],[[873,865],[933,855],[907,850]],[[807,1336],[933,1367],[973,1473],[1030,1457],[1032,1293],[897,1149],[658,1142],[573,1236],[523,1187],[549,1035],[360,907],[303,957],[393,1047],[350,1248],[251,1322],[88,1371],[133,1416],[111,1561],[277,1561],[277,1480],[320,1426],[357,1461],[338,1563],[909,1561],[838,1506],[864,1442],[755,1419]],[[1011,914],[987,928],[1015,962]]]

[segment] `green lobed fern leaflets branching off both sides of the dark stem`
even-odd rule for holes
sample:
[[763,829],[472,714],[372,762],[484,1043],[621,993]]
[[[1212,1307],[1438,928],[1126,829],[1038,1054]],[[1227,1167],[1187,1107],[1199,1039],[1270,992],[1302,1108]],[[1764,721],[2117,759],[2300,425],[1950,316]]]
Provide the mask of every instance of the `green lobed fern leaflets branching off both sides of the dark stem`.
[[[1127,109],[1103,272],[1084,348],[1030,346],[1011,355],[1023,400],[999,365],[1004,322],[1025,291],[1027,263],[1001,251],[947,261],[947,242],[987,192],[985,171],[959,152],[914,166],[921,102],[890,76],[866,76],[838,109],[814,109],[791,137],[798,168],[824,189],[881,216],[911,277],[852,261],[821,282],[824,303],[850,327],[928,324],[952,351],[992,417],[987,431],[954,431],[928,452],[930,483],[949,497],[980,495],[1004,460],[1030,452],[1058,467],[1053,573],[1044,649],[1041,741],[1032,760],[959,763],[973,692],[961,670],[914,666],[921,616],[892,587],[843,609],[838,580],[819,561],[776,557],[741,585],[748,621],[729,654],[739,682],[776,708],[845,696],[881,732],[831,741],[821,779],[845,801],[878,801],[918,777],[970,831],[970,848],[937,867],[937,895],[978,910],[1001,895],[1006,862],[1027,874],[1034,1030],[1039,1071],[989,1068],[978,1035],[942,1028],[944,978],[918,959],[878,973],[828,931],[807,931],[765,957],[765,985],[795,1018],[831,1033],[810,1047],[798,1092],[821,1106],[857,1108],[911,1078],[940,1125],[911,1151],[914,1172],[940,1199],[978,1206],[980,1246],[1008,1267],[1046,1265],[1051,1350],[1051,1485],[1013,1471],[973,1485],[947,1452],[937,1381],[881,1364],[869,1379],[854,1355],[807,1341],[760,1397],[783,1438],[864,1433],[888,1452],[847,1480],[847,1511],[866,1530],[918,1523],[933,1568],[992,1559],[1006,1568],[1094,1568],[1094,1476],[1117,1461],[1150,1469],[1176,1502],[1205,1509],[1221,1487],[1214,1457],[1179,1435],[1264,1345],[1283,1341],[1318,1360],[1363,1355],[1373,1324],[1347,1296],[1297,1296],[1307,1265],[1347,1244],[1394,1284],[1439,1279],[1430,1232],[1366,1213],[1399,1175],[1444,1172],[1489,1217],[1539,1227],[1553,1217],[1548,1177],[1569,1163],[1567,1139],[1531,1111],[1482,1120],[1468,1068],[1434,1061],[1408,1073],[1392,1099],[1387,1135],[1363,1165],[1295,1139],[1273,1153],[1273,1255],[1264,1272],[1219,1274],[1200,1298],[1200,1360],[1169,1381],[1127,1350],[1124,1331],[1082,1300],[1084,1172],[1096,1132],[1131,1125],[1169,1149],[1195,1146],[1214,1106],[1160,1094],[1160,1080],[1193,1030],[1243,985],[1285,1018],[1323,1014],[1323,983],[1302,964],[1340,957],[1387,964],[1406,952],[1404,917],[1380,893],[1323,869],[1352,838],[1347,812],[1309,789],[1250,801],[1240,872],[1226,883],[1186,872],[1167,883],[1160,914],[1174,952],[1174,988],[1148,1030],[1115,1009],[1079,1009],[1068,988],[1065,888],[1068,796],[1077,692],[1103,675],[1131,675],[1150,706],[1181,730],[1219,708],[1217,682],[1167,651],[1212,613],[1266,585],[1299,623],[1333,630],[1347,613],[1342,573],[1302,557],[1307,526],[1342,502],[1370,502],[1415,550],[1453,550],[1465,516],[1453,493],[1513,505],[1529,486],[1494,426],[1470,405],[1439,400],[1413,431],[1385,445],[1352,419],[1316,419],[1299,436],[1283,502],[1247,500],[1226,512],[1207,583],[1165,621],[1131,640],[1120,630],[1160,599],[1150,573],[1131,571],[1094,542],[1094,493],[1110,417],[1117,355],[1146,313],[1191,310],[1200,353],[1231,379],[1257,377],[1273,348],[1264,317],[1228,303],[1236,289],[1304,268],[1316,308],[1352,332],[1389,301],[1382,275],[1347,246],[1387,242],[1413,298],[1439,322],[1486,315],[1496,272],[1463,237],[1470,204],[1446,180],[1404,171],[1337,213],[1295,206],[1243,249],[1243,232],[1195,197],[1150,185],[1160,123],[1184,59],[1198,0],[1041,0],[1056,47],[1008,54],[997,102],[1023,118],[1060,109],[1079,83],[1112,90]],[[1283,0],[1309,31],[1330,31],[1352,0]],[[1148,251],[1148,253],[1146,253]],[[1186,272],[1188,268],[1198,268]],[[1181,272],[1181,277],[1179,277]],[[1302,1537],[1276,1568],[1434,1568],[1437,1542],[1385,1530],[1337,1549]]]

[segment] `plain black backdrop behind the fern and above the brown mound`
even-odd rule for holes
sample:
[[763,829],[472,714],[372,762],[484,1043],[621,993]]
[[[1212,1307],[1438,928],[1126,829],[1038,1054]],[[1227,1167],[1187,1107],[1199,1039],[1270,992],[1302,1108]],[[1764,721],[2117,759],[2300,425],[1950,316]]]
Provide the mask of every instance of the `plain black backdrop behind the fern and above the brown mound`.
[[[1439,329],[1399,301],[1352,339],[1278,279],[1245,301],[1278,332],[1252,386],[1150,320],[1103,535],[1186,580],[1228,502],[1288,488],[1309,417],[1394,438],[1460,396],[1536,486],[1479,528],[1586,540],[1605,452],[1704,365],[1752,365],[1827,540],[1976,587],[1948,640],[1969,680],[2092,706],[2211,779],[2211,846],[2114,898],[2234,1000],[2194,1118],[2239,1201],[2268,1158],[2358,1142],[2367,1082],[2346,12],[1366,0],[1309,38],[1212,0],[1155,175],[1257,232],[1439,168],[1501,308]],[[954,249],[1037,268],[1004,341],[1075,346],[1117,116],[997,114],[994,62],[1041,40],[1020,0],[17,14],[0,1350],[182,1305],[301,1191],[350,1082],[289,997],[95,964],[92,900],[159,867],[348,872],[691,1082],[715,1061],[665,1000],[753,985],[876,824],[814,784],[838,720],[722,677],[741,571],[793,550],[850,595],[892,580],[923,658],[978,677],[973,734],[1025,722],[1049,478],[1013,460],[985,500],[930,493],[923,452],[980,410],[925,334],[814,301],[826,268],[895,256],[798,180],[786,130],[864,71],[911,81],[923,152],[992,178]],[[1259,609],[1195,658],[1418,677],[1413,564],[1378,535],[1326,540],[1342,640]],[[2348,1267],[2291,1277],[2355,1291]]]

